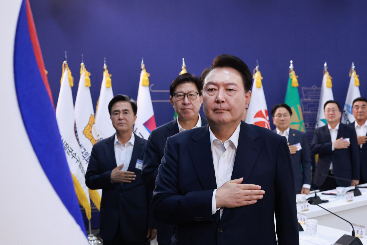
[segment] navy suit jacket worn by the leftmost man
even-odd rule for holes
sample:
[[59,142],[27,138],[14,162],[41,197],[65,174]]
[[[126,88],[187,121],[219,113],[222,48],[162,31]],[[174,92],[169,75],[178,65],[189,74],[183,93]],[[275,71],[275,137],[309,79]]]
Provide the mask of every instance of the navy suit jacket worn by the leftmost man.
[[121,235],[127,242],[147,241],[148,227],[155,228],[148,201],[148,191],[141,180],[141,170],[135,168],[143,159],[146,140],[135,135],[134,148],[127,171],[137,175],[131,183],[112,183],[111,171],[117,167],[115,158],[115,134],[94,144],[86,173],[86,185],[90,189],[102,189],[99,214],[100,232],[109,241],[116,234],[120,223]]

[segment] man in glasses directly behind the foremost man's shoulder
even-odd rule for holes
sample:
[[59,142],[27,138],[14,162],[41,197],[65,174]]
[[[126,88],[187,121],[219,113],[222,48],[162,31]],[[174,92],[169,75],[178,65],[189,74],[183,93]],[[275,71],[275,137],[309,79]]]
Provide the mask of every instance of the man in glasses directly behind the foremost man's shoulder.
[[[167,138],[185,131],[207,125],[207,120],[199,115],[203,96],[199,89],[199,78],[190,73],[179,75],[170,86],[170,101],[177,118],[154,129],[146,143],[142,180],[153,195],[158,175],[158,167],[163,157]],[[157,241],[160,245],[171,243],[173,226],[170,224],[157,225]]]

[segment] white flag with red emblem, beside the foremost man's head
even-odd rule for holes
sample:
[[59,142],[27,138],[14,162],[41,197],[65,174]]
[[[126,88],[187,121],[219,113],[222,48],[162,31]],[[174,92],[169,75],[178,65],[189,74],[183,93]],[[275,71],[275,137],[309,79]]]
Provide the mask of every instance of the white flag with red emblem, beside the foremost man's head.
[[246,123],[270,129],[268,107],[266,106],[261,73],[257,70],[251,90],[251,101],[248,105]]

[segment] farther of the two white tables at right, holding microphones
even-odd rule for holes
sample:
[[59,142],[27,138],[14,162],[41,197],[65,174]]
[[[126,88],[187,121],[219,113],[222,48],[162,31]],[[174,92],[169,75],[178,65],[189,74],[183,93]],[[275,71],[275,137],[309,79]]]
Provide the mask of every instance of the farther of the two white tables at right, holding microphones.
[[[367,186],[367,184],[361,185]],[[355,187],[346,187],[346,190],[354,189]],[[324,191],[326,193],[333,192],[335,190]],[[367,188],[360,188],[361,196],[355,196],[352,202],[345,202],[344,199],[337,198],[331,195],[322,195],[323,192],[317,192],[322,200],[329,200],[327,203],[322,203],[320,206],[330,210],[348,220],[350,223],[360,224],[367,227]],[[315,196],[315,193],[307,195],[306,198]],[[307,219],[316,219],[322,226],[333,227],[340,230],[350,230],[350,225],[342,219],[334,216],[333,214],[321,209],[316,205],[310,205],[308,211],[305,213]]]

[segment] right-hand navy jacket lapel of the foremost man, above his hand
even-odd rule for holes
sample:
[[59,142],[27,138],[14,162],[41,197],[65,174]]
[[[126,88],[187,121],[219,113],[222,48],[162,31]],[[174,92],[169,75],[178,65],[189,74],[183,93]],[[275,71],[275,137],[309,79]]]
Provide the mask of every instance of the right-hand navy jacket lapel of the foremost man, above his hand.
[[[254,129],[241,121],[240,135],[231,180],[243,177],[242,183],[244,184],[247,182],[261,151],[261,144],[255,141],[258,136],[259,134]],[[225,219],[230,210],[232,209],[225,208],[223,210],[221,221]]]

